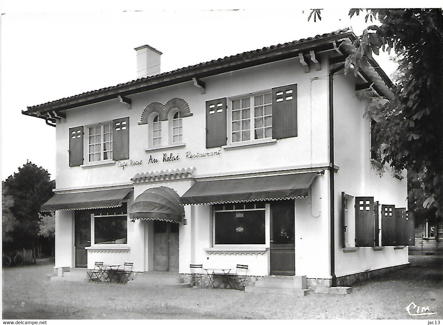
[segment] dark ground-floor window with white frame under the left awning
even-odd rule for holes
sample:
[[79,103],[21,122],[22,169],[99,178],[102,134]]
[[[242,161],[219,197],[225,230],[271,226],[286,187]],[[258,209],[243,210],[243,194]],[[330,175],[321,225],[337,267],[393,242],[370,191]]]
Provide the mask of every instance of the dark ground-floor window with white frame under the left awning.
[[94,244],[126,244],[128,237],[128,210],[124,203],[119,208],[92,210]]

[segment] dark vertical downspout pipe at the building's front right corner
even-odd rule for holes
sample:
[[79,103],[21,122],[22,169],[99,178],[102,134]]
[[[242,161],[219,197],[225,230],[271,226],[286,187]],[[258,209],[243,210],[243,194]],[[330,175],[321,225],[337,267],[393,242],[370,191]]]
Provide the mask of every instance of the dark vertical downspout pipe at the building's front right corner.
[[334,74],[345,67],[344,64],[329,71],[329,191],[330,191],[330,273],[331,286],[337,286],[335,276],[335,193],[334,193]]

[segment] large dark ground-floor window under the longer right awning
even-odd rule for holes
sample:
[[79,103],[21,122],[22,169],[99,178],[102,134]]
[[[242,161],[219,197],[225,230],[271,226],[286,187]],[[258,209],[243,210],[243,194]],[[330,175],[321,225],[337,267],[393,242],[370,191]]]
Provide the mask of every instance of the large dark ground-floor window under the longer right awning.
[[264,244],[265,204],[214,205],[214,244]]

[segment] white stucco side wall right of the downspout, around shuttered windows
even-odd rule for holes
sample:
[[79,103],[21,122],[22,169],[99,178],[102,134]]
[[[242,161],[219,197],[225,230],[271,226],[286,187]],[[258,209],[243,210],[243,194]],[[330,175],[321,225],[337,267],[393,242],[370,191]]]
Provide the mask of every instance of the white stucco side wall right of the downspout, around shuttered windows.
[[[341,192],[351,196],[373,196],[379,204],[407,207],[406,177],[398,180],[390,172],[380,178],[371,169],[370,121],[363,117],[366,102],[355,96],[352,75],[334,77],[334,154],[340,168],[335,174],[335,274],[337,277],[366,270],[376,270],[408,262],[408,249],[385,247],[374,251],[360,247],[358,251],[344,253],[341,243]],[[346,132],[344,132],[346,130]],[[404,176],[406,173],[404,172]],[[354,210],[354,205],[349,209]],[[350,212],[350,234],[355,235],[355,214]],[[381,224],[381,217],[380,221]]]

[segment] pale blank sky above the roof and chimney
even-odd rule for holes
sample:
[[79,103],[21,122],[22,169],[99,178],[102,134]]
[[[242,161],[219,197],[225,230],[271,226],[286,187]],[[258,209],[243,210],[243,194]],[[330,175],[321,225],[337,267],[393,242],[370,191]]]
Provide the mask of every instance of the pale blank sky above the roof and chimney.
[[[308,22],[310,8],[294,1],[244,3],[4,0],[2,180],[27,160],[55,179],[55,128],[22,110],[136,79],[135,47],[162,51],[161,70],[167,72],[344,27],[360,35],[366,26],[364,16],[349,19],[345,7],[326,7],[321,21]],[[395,70],[387,55],[377,62],[388,75]]]

